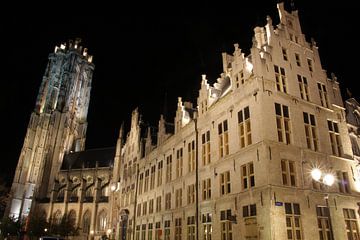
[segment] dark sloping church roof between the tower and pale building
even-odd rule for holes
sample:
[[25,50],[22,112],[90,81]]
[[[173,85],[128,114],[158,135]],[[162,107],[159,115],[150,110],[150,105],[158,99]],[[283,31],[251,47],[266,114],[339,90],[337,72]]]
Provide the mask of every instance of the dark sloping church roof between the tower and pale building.
[[66,154],[61,170],[112,167],[115,157],[115,147],[90,149]]

